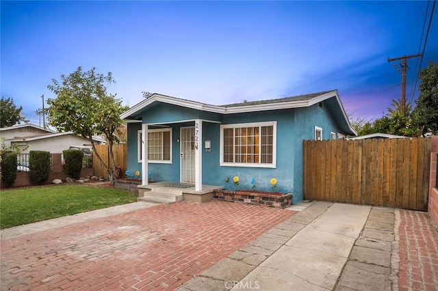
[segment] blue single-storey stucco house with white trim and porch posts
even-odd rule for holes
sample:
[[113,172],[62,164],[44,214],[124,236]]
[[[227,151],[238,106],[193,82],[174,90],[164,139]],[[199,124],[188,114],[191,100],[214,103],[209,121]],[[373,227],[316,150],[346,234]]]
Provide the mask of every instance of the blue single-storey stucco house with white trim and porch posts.
[[[121,115],[128,169],[154,181],[293,193],[302,200],[302,141],[357,135],[337,90],[232,105],[153,94]],[[144,157],[149,163],[143,163]]]

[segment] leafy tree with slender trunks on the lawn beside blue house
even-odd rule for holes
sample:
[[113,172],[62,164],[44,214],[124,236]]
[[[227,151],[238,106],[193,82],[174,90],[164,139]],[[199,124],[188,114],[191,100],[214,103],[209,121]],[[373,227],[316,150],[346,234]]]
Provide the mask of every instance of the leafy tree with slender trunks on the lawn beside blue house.
[[[107,86],[115,83],[112,73],[106,75],[91,68],[84,72],[81,67],[60,81],[52,79],[47,87],[57,97],[49,98],[47,119],[57,130],[71,131],[90,141],[93,154],[107,168],[110,182],[116,178],[113,145],[120,140],[117,131],[123,123],[120,114],[128,109],[116,95],[107,94]],[[93,137],[103,135],[107,141],[110,163],[105,163],[96,151]]]

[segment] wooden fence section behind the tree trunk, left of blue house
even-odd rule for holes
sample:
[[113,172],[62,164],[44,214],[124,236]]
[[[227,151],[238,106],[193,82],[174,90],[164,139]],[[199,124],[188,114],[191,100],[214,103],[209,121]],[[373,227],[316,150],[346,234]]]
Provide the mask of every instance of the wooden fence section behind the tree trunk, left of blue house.
[[[110,165],[110,154],[109,147],[107,145],[99,145],[96,146],[96,152],[101,156],[102,160]],[[127,144],[118,144],[114,146],[114,160],[116,161],[116,165],[120,167],[120,178],[125,178],[125,171],[127,169]],[[108,179],[108,172],[106,167],[102,165],[95,155],[93,156],[93,171],[94,175],[98,177],[103,177],[104,179]]]

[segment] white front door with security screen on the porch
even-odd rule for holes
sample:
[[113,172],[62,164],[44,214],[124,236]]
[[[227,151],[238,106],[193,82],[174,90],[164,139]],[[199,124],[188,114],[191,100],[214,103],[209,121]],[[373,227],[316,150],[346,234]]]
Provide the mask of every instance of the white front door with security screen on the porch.
[[181,127],[181,183],[194,183],[194,126]]

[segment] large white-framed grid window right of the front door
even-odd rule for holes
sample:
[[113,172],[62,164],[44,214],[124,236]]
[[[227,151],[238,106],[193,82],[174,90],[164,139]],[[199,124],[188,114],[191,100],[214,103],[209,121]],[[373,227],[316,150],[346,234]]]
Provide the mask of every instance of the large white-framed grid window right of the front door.
[[220,126],[220,165],[276,167],[276,122]]

